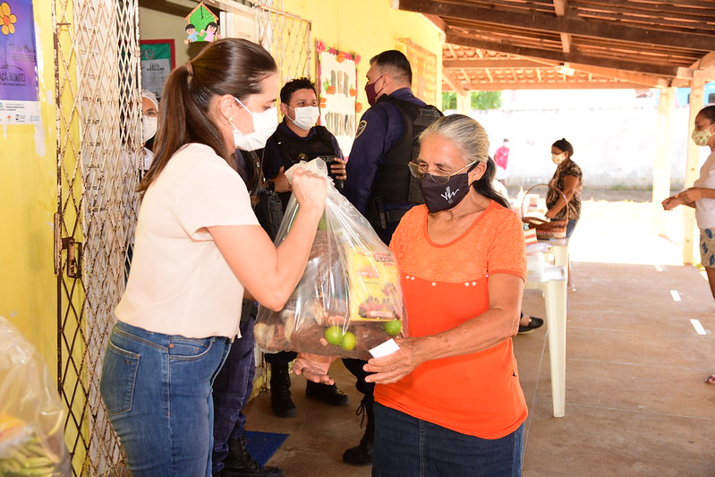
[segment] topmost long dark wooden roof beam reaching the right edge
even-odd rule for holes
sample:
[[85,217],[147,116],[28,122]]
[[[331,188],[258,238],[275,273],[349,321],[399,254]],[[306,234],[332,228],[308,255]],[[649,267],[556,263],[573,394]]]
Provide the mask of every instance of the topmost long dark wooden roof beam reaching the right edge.
[[473,4],[434,2],[433,0],[394,0],[400,10],[452,17],[469,21],[495,23],[508,27],[570,33],[584,37],[609,38],[664,47],[712,51],[715,38],[694,32],[638,28],[615,21],[584,21],[580,18],[555,17],[543,13],[518,13],[481,8]]

